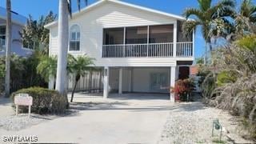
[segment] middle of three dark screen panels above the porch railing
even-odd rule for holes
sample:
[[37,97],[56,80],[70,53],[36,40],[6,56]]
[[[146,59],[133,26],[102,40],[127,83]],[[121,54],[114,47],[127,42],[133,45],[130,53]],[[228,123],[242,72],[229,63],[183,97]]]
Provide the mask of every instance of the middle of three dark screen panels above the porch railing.
[[147,26],[126,27],[126,44],[147,43]]

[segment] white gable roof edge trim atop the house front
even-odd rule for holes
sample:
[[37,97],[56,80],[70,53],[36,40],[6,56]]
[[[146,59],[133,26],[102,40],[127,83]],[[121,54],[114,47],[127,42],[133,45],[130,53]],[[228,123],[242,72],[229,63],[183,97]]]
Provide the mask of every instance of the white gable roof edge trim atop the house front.
[[[86,12],[96,8],[97,6],[102,5],[105,2],[114,2],[114,3],[122,5],[122,6],[133,7],[133,8],[138,9],[138,10],[144,10],[146,12],[151,12],[151,13],[154,13],[154,14],[160,14],[160,15],[163,15],[163,16],[166,16],[166,17],[175,18],[175,19],[182,20],[182,21],[186,20],[186,18],[184,18],[182,16],[179,16],[179,15],[176,15],[176,14],[170,14],[170,13],[162,12],[160,10],[153,10],[153,9],[150,9],[150,8],[146,8],[146,7],[143,7],[143,6],[138,6],[138,5],[134,5],[134,4],[130,4],[130,3],[127,3],[127,2],[118,1],[118,0],[101,0],[101,1],[95,2],[94,4],[92,4],[90,6],[86,6],[81,11],[75,12],[74,14],[72,14],[72,17],[75,18],[78,15],[86,13]],[[58,23],[58,21],[50,22],[45,27],[50,28],[51,26],[57,25],[57,23]]]

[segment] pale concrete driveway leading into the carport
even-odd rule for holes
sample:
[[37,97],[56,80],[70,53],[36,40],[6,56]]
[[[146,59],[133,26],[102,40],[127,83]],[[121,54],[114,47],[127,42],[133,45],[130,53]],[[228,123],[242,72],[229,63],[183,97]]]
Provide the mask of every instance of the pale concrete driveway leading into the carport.
[[71,105],[76,112],[0,134],[34,135],[39,142],[158,143],[173,108],[167,94],[112,94],[106,100],[76,94]]

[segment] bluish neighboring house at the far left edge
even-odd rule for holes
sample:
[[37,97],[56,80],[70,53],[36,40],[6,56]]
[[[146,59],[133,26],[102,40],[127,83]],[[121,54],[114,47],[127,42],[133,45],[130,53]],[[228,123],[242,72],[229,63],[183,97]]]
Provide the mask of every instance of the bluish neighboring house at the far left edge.
[[[12,41],[11,54],[18,54],[20,56],[27,56],[32,54],[33,50],[24,48],[22,46],[22,38],[19,34],[22,28],[26,26],[26,17],[12,11]],[[0,56],[6,54],[6,9],[0,7]]]

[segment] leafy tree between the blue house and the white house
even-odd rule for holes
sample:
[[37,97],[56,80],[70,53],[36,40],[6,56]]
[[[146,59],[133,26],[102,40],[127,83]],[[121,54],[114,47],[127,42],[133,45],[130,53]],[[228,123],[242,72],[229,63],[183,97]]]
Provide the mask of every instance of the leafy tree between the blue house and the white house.
[[49,22],[53,22],[55,19],[56,14],[52,11],[46,17],[42,15],[38,20],[34,20],[29,15],[26,26],[20,32],[23,46],[30,49],[40,49],[40,46],[42,46],[45,53],[48,54],[49,30],[44,28],[44,26]]

